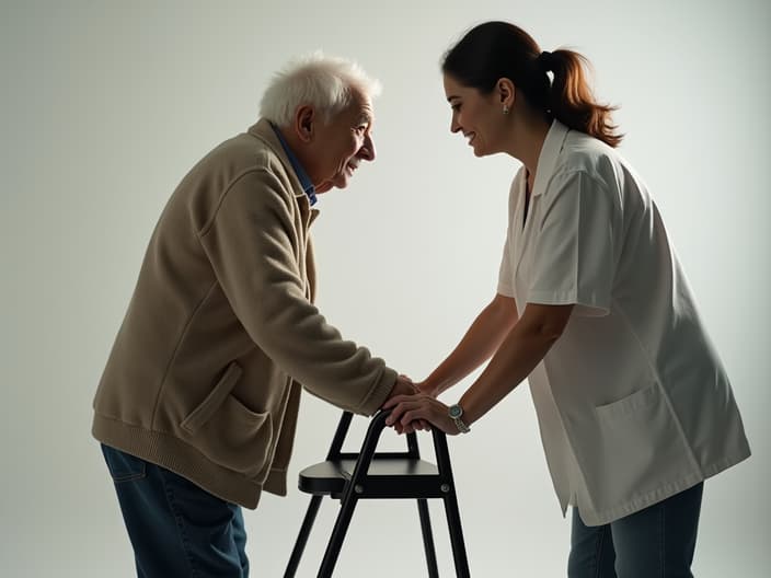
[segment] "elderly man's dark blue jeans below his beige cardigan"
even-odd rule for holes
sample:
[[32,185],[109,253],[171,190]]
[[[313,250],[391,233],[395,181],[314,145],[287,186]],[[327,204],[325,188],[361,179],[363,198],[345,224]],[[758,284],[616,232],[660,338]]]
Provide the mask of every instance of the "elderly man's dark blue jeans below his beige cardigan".
[[102,444],[139,578],[249,576],[241,507]]

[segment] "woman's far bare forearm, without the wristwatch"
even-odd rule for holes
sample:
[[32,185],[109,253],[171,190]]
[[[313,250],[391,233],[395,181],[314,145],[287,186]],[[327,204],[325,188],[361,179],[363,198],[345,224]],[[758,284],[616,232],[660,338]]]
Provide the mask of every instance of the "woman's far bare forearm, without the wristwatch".
[[496,294],[447,359],[426,378],[423,389],[426,393],[438,395],[458,383],[490,359],[516,323],[514,299]]

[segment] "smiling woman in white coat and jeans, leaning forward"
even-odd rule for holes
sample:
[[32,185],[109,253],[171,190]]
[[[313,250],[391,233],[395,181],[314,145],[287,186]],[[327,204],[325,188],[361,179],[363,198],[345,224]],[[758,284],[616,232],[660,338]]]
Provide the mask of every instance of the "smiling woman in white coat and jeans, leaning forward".
[[[450,130],[522,166],[497,294],[424,395],[387,404],[390,424],[468,431],[528,378],[563,513],[574,507],[568,576],[689,577],[703,481],[750,451],[661,216],[582,65],[504,22],[445,57]],[[491,357],[458,404],[435,398]]]

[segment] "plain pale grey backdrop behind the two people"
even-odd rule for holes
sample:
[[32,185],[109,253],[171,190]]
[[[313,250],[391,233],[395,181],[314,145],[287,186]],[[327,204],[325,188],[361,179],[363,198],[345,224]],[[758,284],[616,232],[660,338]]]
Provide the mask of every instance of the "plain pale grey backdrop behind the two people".
[[[156,220],[187,170],[246,129],[271,74],[321,48],[384,86],[378,159],[320,201],[319,305],[424,378],[493,297],[518,163],[449,132],[439,60],[504,19],[595,66],[727,367],[753,456],[705,485],[699,577],[761,578],[768,547],[771,3],[767,0],[0,3],[0,576],[129,577],[91,401]],[[446,396],[454,401],[470,384]],[[281,576],[340,411],[301,406],[289,496],[245,511],[253,576]],[[357,419],[356,435],[366,420]],[[422,437],[424,451],[428,437]],[[402,442],[387,432],[384,447]],[[450,439],[475,577],[564,576],[561,516],[527,385]],[[299,576],[315,576],[326,500]],[[431,504],[444,576],[453,575]],[[425,576],[414,504],[364,502],[335,576]]]

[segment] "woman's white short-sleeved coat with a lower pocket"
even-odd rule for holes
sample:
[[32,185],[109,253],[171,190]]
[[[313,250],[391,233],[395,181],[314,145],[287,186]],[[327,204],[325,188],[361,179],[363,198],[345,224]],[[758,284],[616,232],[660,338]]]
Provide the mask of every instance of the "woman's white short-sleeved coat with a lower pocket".
[[612,148],[554,122],[525,221],[514,180],[498,292],[574,304],[529,375],[563,510],[611,522],[750,454],[723,365],[645,185]]

